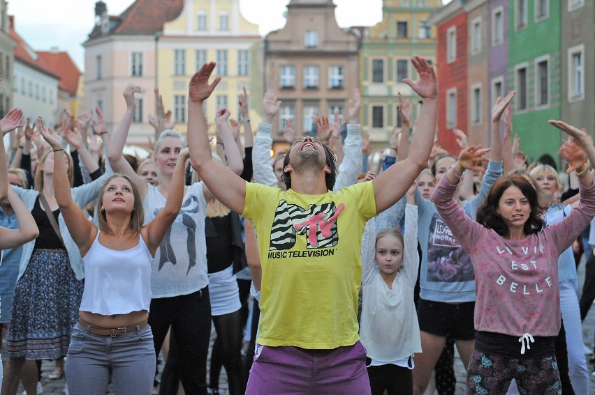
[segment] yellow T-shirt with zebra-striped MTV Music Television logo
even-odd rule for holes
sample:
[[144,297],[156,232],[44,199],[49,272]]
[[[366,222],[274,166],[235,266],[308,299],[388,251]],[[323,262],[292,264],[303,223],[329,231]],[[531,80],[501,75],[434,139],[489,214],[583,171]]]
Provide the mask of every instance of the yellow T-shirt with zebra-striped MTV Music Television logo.
[[358,341],[365,222],[376,215],[372,183],[319,195],[247,183],[263,269],[264,346],[329,349]]

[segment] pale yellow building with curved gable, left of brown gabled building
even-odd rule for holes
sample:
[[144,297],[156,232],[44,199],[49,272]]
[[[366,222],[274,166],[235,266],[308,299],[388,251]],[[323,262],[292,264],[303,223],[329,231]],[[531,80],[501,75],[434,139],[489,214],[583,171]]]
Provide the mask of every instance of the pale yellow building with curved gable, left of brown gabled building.
[[207,100],[205,115],[213,120],[227,107],[238,118],[238,99],[244,86],[250,95],[251,123],[258,125],[263,98],[261,69],[255,59],[260,50],[258,25],[240,14],[240,0],[184,1],[179,16],[163,24],[157,36],[157,86],[166,109],[172,109],[178,125],[186,131],[188,82],[204,63],[217,63],[214,75],[223,79]]

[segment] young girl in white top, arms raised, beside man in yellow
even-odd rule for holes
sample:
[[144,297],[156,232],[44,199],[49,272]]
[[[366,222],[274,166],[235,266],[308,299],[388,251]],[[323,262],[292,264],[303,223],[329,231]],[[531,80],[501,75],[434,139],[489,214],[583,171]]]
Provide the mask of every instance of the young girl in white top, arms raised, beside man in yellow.
[[[418,208],[407,205],[405,232],[386,228],[376,235],[366,226],[362,238],[362,320],[360,339],[367,350],[372,395],[413,392],[413,353],[421,353],[413,302],[418,277]],[[373,219],[372,219],[373,220]],[[367,247],[367,248],[366,248]]]

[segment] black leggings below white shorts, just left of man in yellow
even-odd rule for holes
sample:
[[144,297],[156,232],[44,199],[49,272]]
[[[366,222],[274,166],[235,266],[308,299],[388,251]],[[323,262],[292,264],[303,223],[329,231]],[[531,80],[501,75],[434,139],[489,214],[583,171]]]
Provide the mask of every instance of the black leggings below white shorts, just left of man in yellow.
[[219,373],[223,364],[227,373],[230,395],[241,395],[245,390],[242,373],[241,317],[241,310],[223,314],[223,316],[213,316],[217,337],[211,352],[209,387],[219,389]]

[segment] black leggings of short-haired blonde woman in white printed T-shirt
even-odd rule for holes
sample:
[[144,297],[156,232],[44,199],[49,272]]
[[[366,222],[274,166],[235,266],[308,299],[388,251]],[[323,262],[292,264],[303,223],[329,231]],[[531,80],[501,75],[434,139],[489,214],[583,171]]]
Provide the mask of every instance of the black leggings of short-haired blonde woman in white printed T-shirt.
[[170,353],[161,373],[159,394],[175,394],[182,382],[186,395],[207,394],[207,355],[211,336],[209,288],[189,295],[161,297],[151,301],[149,325],[155,353],[171,325]]

